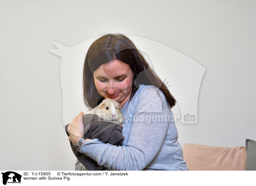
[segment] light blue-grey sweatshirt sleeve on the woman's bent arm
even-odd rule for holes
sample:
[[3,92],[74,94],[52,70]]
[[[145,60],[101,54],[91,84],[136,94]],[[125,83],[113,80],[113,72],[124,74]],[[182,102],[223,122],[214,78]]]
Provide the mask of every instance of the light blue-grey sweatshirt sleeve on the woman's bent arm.
[[126,146],[90,139],[84,142],[80,152],[110,170],[145,169],[160,150],[170,124],[160,117],[172,118],[172,112],[161,90],[154,86],[141,91],[135,105]]

